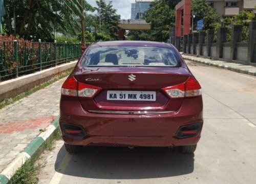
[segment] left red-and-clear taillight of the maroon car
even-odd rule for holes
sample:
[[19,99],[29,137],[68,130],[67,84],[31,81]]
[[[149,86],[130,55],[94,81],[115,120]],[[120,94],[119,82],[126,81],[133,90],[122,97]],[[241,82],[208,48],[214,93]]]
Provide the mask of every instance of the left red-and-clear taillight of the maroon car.
[[68,78],[61,87],[61,95],[73,97],[94,97],[100,87],[78,82],[75,77]]

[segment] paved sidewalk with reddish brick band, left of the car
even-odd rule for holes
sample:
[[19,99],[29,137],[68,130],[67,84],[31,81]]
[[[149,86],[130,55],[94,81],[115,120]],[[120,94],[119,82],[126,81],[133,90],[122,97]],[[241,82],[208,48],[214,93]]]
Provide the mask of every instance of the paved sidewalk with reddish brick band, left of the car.
[[58,116],[65,79],[0,109],[0,173]]

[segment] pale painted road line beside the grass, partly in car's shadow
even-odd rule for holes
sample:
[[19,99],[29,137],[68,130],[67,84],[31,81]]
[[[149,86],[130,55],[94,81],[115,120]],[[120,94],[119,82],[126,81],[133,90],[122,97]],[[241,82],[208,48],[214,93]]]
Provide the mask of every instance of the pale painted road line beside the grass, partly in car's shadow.
[[[70,155],[68,153],[66,153],[66,155],[63,157],[63,159],[62,159],[62,161],[59,165],[59,168],[61,168],[62,172],[64,172],[66,170],[66,168],[68,167],[71,158],[72,158],[72,155]],[[49,184],[59,184],[62,176],[63,176],[62,173],[59,173],[59,172],[56,171],[54,173],[51,181],[49,182]]]

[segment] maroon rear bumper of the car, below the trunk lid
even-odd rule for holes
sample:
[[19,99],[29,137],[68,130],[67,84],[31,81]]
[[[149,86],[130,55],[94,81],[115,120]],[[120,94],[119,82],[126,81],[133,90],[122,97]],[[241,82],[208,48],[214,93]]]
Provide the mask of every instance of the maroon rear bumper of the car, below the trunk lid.
[[[85,111],[78,100],[60,101],[60,127],[65,143],[88,146],[167,147],[197,144],[203,125],[202,97],[185,99],[176,112],[162,114],[104,114]],[[70,135],[66,124],[81,127],[85,135]],[[199,124],[196,135],[180,139],[177,131]]]

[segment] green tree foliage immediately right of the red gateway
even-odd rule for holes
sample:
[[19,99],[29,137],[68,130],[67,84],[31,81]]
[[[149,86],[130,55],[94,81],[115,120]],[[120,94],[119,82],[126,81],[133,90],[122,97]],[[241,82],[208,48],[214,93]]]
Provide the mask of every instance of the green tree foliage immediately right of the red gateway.
[[216,10],[212,8],[207,0],[192,0],[191,10],[196,14],[194,23],[197,20],[204,19],[204,29],[214,29],[220,22],[220,17]]

